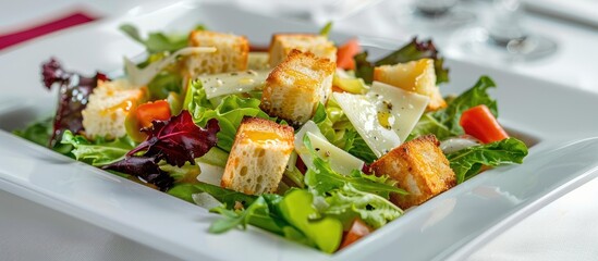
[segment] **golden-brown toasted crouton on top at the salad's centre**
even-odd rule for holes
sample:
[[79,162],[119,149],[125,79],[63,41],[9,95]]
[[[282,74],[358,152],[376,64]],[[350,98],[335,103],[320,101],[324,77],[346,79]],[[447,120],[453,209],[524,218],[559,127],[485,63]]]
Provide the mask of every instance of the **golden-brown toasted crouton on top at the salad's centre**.
[[268,75],[261,96],[261,109],[293,125],[307,122],[332,92],[335,65],[310,52],[293,50]]

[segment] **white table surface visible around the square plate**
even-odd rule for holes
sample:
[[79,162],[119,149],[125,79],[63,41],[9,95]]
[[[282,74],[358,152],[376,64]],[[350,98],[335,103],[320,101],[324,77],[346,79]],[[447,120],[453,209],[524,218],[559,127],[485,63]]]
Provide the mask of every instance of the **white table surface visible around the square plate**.
[[[84,8],[103,16],[119,15],[139,2],[142,1],[2,1],[0,34],[32,22],[44,21],[44,17],[56,16],[66,10]],[[316,4],[317,1],[307,2]],[[305,11],[308,10],[305,7],[298,10],[296,4],[293,5],[289,1],[281,3],[273,0],[239,0],[233,3],[270,14],[272,10],[291,7],[285,14],[296,11],[301,17],[305,17]],[[404,7],[401,4],[401,1],[377,2],[352,16],[337,21],[334,28],[362,35],[405,39],[408,30],[401,28],[395,21],[396,10]],[[483,10],[484,4],[487,4],[487,1],[466,1],[466,7],[475,10]],[[480,12],[478,15],[483,16],[484,13]],[[321,21],[321,17],[313,18]],[[536,14],[528,15],[524,23],[533,32],[557,40],[558,52],[533,62],[486,61],[452,46],[451,35],[448,33],[437,33],[434,36],[448,57],[509,67],[532,77],[598,92],[598,28]],[[430,33],[419,33],[420,36],[427,34]],[[472,254],[469,260],[598,260],[598,248],[595,247],[597,245],[598,179],[594,179],[505,231]],[[172,259],[168,254],[93,224],[0,191],[0,260]]]

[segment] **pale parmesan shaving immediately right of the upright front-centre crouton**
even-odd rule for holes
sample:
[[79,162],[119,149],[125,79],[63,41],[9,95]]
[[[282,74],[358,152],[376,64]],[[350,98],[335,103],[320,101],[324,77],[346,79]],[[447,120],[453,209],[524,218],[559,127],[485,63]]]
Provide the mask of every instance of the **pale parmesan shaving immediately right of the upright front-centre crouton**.
[[305,135],[309,137],[309,141],[312,142],[312,147],[316,150],[316,153],[330,162],[330,167],[333,171],[343,175],[349,175],[353,170],[362,170],[364,166],[364,161],[330,144],[320,133],[318,126],[314,122],[308,121],[295,135],[295,151],[307,167],[314,167],[314,159],[312,159],[312,153],[303,144],[303,137]]

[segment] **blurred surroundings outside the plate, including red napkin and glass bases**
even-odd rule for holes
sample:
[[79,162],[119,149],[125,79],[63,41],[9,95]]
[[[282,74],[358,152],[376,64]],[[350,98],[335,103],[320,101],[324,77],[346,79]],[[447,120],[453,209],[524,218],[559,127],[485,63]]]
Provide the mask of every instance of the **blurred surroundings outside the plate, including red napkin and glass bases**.
[[[160,1],[168,5],[175,1]],[[449,59],[598,92],[597,0],[225,0],[247,12],[406,41],[432,38]],[[141,0],[2,0],[0,55],[53,32],[139,12]],[[563,98],[565,99],[565,98]],[[598,101],[597,101],[598,109]],[[598,119],[598,117],[597,117]],[[587,121],[598,121],[589,119]],[[596,260],[593,181],[517,224],[471,260]],[[0,191],[2,260],[171,257]],[[548,229],[549,228],[549,229]]]

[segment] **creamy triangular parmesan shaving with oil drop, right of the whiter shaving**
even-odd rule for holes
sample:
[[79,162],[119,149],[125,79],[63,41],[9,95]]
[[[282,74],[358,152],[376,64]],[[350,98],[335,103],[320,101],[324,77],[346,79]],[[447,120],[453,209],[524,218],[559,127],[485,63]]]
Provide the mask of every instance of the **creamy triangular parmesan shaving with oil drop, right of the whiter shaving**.
[[426,111],[429,98],[392,85],[374,82],[368,92],[379,113],[389,113],[392,130],[404,141]]

